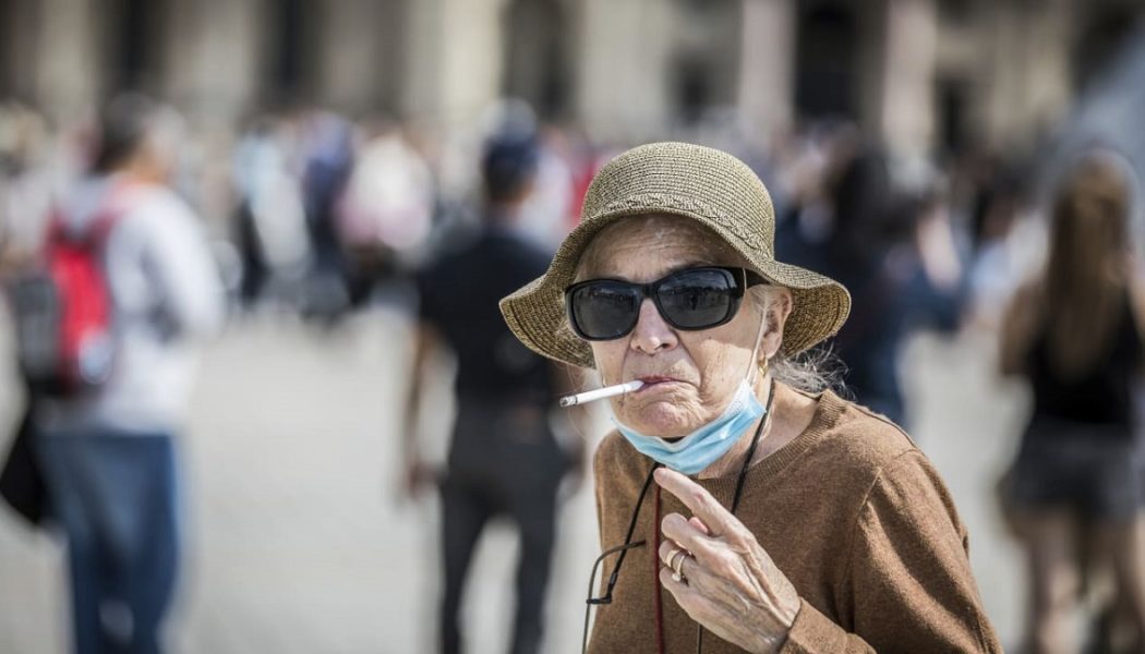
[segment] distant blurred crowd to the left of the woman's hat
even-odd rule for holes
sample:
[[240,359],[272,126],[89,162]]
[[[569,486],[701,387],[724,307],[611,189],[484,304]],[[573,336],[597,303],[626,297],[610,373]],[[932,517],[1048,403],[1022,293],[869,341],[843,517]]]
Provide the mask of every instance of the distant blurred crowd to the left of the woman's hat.
[[[6,265],[37,251],[53,198],[85,174],[96,132],[95,120],[49,126],[24,105],[0,111]],[[472,231],[482,142],[510,132],[538,140],[538,183],[522,229],[552,246],[574,223],[603,155],[576,131],[538,124],[518,102],[491,108],[472,134],[449,139],[385,117],[267,112],[212,152],[184,135],[171,184],[212,231],[242,307],[273,304],[330,318]]]

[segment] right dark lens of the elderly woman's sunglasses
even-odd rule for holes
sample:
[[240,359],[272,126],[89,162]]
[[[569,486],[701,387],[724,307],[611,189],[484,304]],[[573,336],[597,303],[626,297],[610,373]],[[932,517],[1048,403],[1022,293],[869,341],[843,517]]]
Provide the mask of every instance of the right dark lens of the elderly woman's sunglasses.
[[685,270],[665,279],[656,293],[664,317],[680,329],[705,329],[732,314],[735,279],[726,270]]

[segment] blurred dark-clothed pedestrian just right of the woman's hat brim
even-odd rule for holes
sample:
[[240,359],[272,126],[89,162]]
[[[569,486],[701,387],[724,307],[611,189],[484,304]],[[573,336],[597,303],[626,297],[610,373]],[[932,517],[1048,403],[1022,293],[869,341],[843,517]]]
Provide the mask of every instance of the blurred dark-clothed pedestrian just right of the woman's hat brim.
[[837,171],[828,182],[828,236],[791,257],[851,291],[851,317],[830,341],[846,365],[846,387],[860,404],[902,425],[907,337],[919,325],[950,331],[958,324],[962,271],[949,218],[935,186],[898,191],[875,149],[847,152]]

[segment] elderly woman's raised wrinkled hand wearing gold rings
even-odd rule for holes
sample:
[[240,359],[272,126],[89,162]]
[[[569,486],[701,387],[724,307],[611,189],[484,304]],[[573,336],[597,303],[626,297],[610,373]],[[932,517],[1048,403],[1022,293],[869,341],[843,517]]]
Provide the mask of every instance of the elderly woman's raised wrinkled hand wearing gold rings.
[[[668,468],[656,471],[656,483],[694,514],[670,513],[661,522],[660,582],[716,636],[748,652],[779,652],[799,613],[795,586],[751,531],[700,484]],[[668,567],[673,564],[680,581]]]

